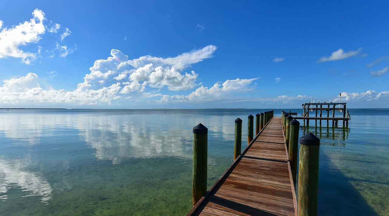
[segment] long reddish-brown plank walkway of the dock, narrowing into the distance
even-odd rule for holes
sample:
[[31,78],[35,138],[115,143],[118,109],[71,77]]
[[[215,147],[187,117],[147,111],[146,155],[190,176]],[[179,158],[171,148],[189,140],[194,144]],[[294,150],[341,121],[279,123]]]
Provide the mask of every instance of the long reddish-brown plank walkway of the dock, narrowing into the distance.
[[274,117],[188,215],[297,215],[280,117]]

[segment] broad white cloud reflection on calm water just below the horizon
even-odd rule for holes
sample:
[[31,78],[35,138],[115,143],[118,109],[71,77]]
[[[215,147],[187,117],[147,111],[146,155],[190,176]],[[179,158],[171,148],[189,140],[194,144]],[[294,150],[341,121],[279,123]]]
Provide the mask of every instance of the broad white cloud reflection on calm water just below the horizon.
[[[203,123],[209,139],[233,142],[236,116],[186,114],[12,114],[2,115],[1,128],[14,144],[39,144],[42,137],[74,128],[95,149],[100,160],[120,163],[123,158],[192,156],[192,128]],[[245,124],[242,133],[247,133]],[[245,138],[245,136],[243,136]]]

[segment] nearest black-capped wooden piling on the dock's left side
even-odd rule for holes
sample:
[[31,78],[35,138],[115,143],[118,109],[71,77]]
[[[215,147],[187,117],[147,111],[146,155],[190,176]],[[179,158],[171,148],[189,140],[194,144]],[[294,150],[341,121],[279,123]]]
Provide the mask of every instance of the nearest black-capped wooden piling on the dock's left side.
[[193,206],[207,192],[208,128],[198,124],[193,128]]

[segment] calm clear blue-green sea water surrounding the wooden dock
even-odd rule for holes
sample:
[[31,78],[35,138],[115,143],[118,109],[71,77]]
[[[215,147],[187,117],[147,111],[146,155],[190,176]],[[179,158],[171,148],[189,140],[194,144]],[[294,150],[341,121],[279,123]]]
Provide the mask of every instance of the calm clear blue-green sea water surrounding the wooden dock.
[[[234,120],[244,120],[247,134],[247,116],[263,111],[2,109],[0,212],[185,215],[192,128],[209,128],[211,186],[233,161]],[[349,111],[347,129],[301,122],[300,135],[321,139],[319,214],[389,215],[389,109]]]

